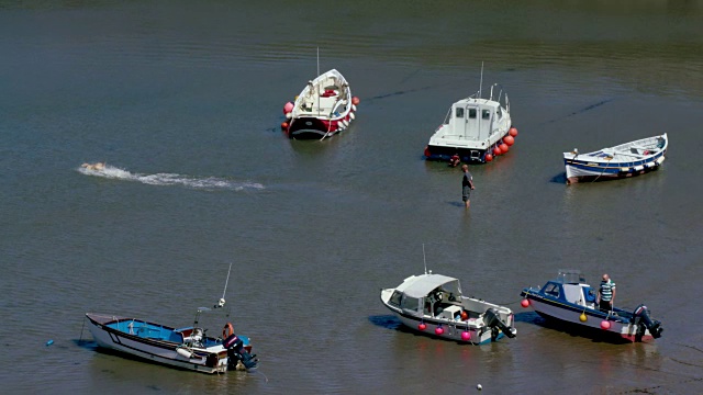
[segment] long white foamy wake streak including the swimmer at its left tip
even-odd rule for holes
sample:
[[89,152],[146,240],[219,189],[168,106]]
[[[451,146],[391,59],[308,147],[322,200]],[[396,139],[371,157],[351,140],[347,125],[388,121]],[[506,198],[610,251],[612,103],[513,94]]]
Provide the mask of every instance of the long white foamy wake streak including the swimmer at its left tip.
[[148,185],[180,185],[199,190],[231,190],[249,191],[264,190],[264,185],[258,182],[233,181],[217,177],[191,177],[175,173],[142,174],[132,173],[114,166],[105,165],[104,168],[96,170],[79,167],[78,171],[86,176],[102,177],[124,181],[137,181]]

